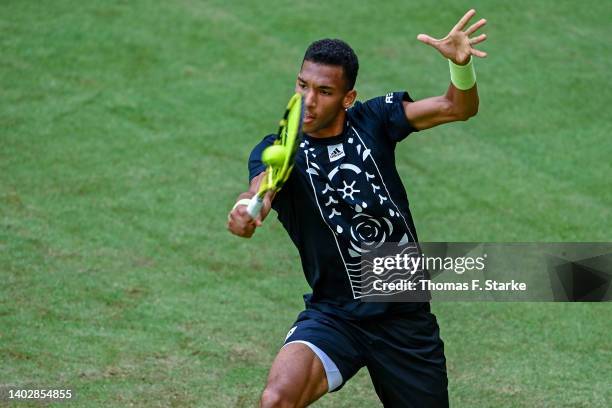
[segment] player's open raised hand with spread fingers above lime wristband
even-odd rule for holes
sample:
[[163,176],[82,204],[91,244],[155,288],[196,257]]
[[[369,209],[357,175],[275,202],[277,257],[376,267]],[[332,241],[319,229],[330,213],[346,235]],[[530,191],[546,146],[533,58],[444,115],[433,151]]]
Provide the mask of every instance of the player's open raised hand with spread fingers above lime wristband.
[[435,39],[427,34],[419,34],[417,40],[434,47],[445,58],[450,59],[457,65],[465,65],[469,62],[470,56],[485,58],[487,53],[477,50],[473,46],[487,39],[486,34],[480,34],[470,38],[480,27],[487,23],[487,20],[481,18],[476,23],[472,24],[467,30],[463,31],[467,23],[476,14],[476,10],[472,9],[465,13],[461,20],[453,27],[448,35],[442,39]]

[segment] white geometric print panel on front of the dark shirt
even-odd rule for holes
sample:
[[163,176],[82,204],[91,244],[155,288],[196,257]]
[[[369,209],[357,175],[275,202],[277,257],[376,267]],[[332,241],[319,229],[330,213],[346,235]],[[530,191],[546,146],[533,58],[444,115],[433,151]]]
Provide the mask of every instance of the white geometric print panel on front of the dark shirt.
[[[414,242],[414,237],[389,194],[371,149],[352,126],[350,129],[354,137],[342,146],[343,160],[315,155],[312,145],[302,146],[302,151],[319,212],[334,235],[357,299],[371,292],[361,279],[365,267],[362,255],[384,243],[405,246]],[[338,145],[334,145],[336,149]]]

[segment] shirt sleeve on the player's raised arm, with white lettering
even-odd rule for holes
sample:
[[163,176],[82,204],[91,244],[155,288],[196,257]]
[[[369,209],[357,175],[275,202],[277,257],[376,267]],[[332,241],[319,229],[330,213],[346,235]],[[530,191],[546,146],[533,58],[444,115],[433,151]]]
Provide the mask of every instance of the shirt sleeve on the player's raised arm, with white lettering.
[[376,118],[392,142],[405,139],[410,133],[418,132],[406,118],[403,101],[414,102],[408,92],[389,92],[366,101],[364,114]]

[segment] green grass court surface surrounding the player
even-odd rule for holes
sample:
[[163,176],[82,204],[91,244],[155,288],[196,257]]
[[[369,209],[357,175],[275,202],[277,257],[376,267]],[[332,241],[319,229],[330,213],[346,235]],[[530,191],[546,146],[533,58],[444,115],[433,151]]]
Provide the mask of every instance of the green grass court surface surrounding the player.
[[[397,149],[420,239],[612,240],[610,2],[1,2],[0,386],[254,406],[308,288],[274,216],[225,220],[306,46],[349,42],[359,99],[438,95],[416,35],[470,7],[478,116]],[[609,304],[433,310],[452,406],[610,406]],[[379,404],[362,370],[315,406]]]

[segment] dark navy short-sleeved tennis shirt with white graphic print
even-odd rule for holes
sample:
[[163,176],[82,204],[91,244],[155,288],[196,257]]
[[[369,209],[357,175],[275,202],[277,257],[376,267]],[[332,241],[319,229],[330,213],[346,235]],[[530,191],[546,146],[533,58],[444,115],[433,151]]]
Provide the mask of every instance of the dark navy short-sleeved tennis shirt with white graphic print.
[[[307,308],[348,319],[410,312],[417,304],[363,302],[361,255],[384,242],[417,242],[406,190],[395,167],[395,145],[416,131],[406,119],[407,92],[357,102],[342,133],[305,134],[294,169],[272,208],[297,247],[306,280]],[[265,170],[266,136],[251,152],[250,179]]]

